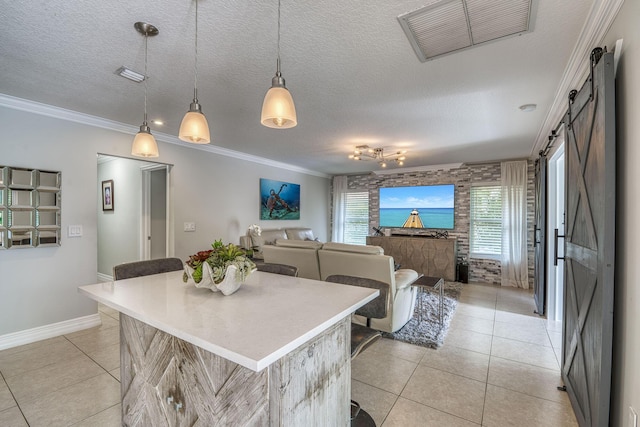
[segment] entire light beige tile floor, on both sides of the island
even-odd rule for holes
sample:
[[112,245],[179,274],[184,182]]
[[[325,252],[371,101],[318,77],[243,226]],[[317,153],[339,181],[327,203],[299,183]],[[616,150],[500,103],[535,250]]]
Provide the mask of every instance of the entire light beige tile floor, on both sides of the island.
[[[352,362],[352,396],[379,426],[574,426],[561,330],[531,292],[465,285],[438,350],[379,340]],[[0,351],[0,426],[119,426],[118,313],[102,326]]]

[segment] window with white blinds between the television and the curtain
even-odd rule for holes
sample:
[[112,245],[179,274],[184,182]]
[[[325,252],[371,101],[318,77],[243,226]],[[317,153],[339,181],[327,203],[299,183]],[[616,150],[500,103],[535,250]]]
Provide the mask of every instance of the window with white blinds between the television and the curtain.
[[500,258],[502,254],[502,188],[471,187],[470,256]]

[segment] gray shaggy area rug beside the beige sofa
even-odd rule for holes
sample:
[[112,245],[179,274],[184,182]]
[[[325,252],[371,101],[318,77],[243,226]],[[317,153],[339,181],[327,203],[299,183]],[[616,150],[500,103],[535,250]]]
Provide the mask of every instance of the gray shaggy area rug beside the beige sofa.
[[416,301],[413,317],[409,322],[394,333],[383,332],[382,336],[422,347],[440,347],[444,342],[449,324],[458,306],[458,298],[460,297],[462,286],[463,284],[459,282],[445,282],[442,326],[438,320],[437,291],[418,292],[418,298],[422,298],[424,312],[422,321],[418,312],[420,304]]

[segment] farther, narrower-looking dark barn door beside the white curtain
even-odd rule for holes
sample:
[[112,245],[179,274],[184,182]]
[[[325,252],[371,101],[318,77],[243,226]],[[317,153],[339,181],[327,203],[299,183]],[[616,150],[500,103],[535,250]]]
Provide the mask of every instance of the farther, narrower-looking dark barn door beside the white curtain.
[[547,157],[540,153],[536,160],[535,263],[534,300],[536,313],[545,313],[547,289]]

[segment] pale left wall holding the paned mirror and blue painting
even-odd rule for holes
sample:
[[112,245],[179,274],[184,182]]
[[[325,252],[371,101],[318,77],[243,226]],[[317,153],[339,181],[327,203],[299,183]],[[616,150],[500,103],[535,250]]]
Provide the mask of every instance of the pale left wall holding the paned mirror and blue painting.
[[[130,157],[133,135],[2,106],[0,129],[0,164],[62,171],[63,230],[60,247],[0,251],[1,339],[96,313],[96,303],[77,292],[78,286],[97,282],[96,156]],[[308,226],[327,240],[328,178],[175,144],[159,142],[159,149],[157,160],[174,165],[170,185],[177,257],[186,259],[218,238],[238,242],[252,223]],[[299,221],[258,221],[260,178],[300,184]],[[115,190],[117,210],[117,182]],[[196,223],[196,232],[182,231],[186,221]],[[67,238],[69,225],[82,225],[84,235]]]

